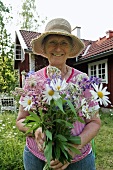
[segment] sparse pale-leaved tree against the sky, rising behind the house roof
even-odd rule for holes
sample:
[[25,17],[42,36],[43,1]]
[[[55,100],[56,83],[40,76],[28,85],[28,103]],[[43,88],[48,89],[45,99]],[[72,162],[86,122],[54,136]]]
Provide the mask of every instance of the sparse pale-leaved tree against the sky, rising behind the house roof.
[[37,31],[38,27],[45,23],[45,20],[40,19],[38,15],[35,0],[23,0],[22,11],[19,13],[21,16],[20,25],[21,29],[28,31]]

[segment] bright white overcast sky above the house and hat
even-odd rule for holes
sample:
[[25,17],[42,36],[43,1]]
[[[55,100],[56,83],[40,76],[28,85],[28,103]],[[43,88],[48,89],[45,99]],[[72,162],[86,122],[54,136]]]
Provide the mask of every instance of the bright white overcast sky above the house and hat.
[[[2,0],[7,6],[11,4],[14,20],[10,27],[12,33],[16,29],[17,11],[22,0]],[[54,18],[67,19],[72,29],[81,27],[80,38],[98,40],[113,30],[113,0],[36,0],[37,11],[42,19],[47,17],[38,32],[44,32],[46,23]],[[73,32],[74,33],[74,32]]]

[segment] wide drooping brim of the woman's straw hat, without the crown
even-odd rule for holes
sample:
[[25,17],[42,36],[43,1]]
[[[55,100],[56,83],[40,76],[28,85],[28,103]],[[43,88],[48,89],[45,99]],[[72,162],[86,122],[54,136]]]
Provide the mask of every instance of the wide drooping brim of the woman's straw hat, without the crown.
[[67,32],[61,32],[61,30],[57,30],[56,32],[55,31],[45,32],[41,34],[39,37],[33,39],[31,41],[33,53],[48,58],[43,50],[42,42],[46,36],[53,34],[64,35],[72,38],[73,46],[68,58],[77,57],[85,47],[84,43],[77,36],[69,34]]

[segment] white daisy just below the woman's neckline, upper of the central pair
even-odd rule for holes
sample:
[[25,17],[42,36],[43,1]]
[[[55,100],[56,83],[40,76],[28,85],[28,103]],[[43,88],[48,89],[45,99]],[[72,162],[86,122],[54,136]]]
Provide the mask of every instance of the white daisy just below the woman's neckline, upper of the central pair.
[[66,80],[62,80],[60,78],[52,79],[50,86],[53,88],[54,91],[62,91],[65,90],[67,87]]

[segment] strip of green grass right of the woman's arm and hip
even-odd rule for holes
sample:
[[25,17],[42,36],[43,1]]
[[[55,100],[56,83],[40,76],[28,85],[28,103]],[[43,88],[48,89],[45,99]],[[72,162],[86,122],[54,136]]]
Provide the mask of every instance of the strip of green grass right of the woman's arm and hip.
[[97,170],[113,169],[113,112],[100,113],[102,125],[95,138]]

